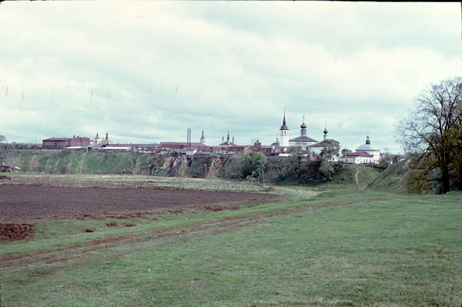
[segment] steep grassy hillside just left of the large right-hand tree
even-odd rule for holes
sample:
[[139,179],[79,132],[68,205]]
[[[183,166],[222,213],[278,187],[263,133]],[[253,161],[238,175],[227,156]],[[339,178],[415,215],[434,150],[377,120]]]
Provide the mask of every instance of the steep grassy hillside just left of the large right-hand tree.
[[406,179],[409,168],[408,159],[390,165],[375,178],[367,189],[375,189],[392,193],[407,193],[404,180]]

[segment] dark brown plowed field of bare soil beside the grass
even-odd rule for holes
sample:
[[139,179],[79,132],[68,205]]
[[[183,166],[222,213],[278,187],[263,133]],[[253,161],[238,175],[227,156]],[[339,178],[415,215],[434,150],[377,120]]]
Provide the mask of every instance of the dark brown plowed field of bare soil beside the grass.
[[268,193],[0,185],[0,221],[271,201]]

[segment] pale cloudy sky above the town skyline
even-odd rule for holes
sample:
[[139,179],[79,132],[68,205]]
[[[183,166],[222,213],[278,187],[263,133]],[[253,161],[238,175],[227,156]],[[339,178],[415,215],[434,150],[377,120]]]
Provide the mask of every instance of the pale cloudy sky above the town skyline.
[[427,85],[461,75],[460,2],[3,1],[0,135],[401,152]]

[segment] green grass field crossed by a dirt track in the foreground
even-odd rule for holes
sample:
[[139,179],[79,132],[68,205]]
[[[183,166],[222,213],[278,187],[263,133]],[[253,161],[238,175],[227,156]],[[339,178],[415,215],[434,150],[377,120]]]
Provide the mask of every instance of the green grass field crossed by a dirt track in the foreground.
[[461,306],[462,193],[274,193],[286,200],[134,227],[35,223],[0,243],[0,305]]

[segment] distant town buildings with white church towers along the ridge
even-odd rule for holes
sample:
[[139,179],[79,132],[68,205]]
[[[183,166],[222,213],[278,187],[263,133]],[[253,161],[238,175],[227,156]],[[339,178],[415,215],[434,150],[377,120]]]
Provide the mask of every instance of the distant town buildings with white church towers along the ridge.
[[[303,155],[307,160],[321,159],[323,149],[330,145],[328,140],[327,124],[324,128],[323,140],[321,142],[307,136],[305,117],[303,117],[300,125],[300,136],[290,139],[289,127],[286,124],[286,110],[284,110],[282,125],[279,129],[279,137],[276,137],[276,142],[269,146],[262,146],[257,139],[253,145],[237,145],[234,143],[234,136],[230,142],[230,133],[222,137],[222,143],[218,146],[209,146],[205,142],[204,130],[202,130],[201,139],[199,142],[190,142],[190,130],[188,129],[188,142],[161,142],[159,144],[133,144],[124,143],[115,144],[109,140],[109,135],[106,132],[105,139],[100,139],[98,133],[94,140],[88,137],[72,138],[49,138],[43,140],[43,149],[66,148],[67,150],[98,150],[98,151],[137,151],[145,153],[160,153],[160,154],[186,154],[188,156],[236,156],[247,151],[254,153],[264,153],[265,155],[279,155],[287,157],[290,155],[288,150],[291,147],[300,147]],[[369,133],[368,133],[369,134]],[[381,159],[380,151],[371,144],[369,136],[366,142],[360,145],[353,153],[351,150],[342,150],[339,158],[334,157],[333,161],[340,163],[352,164],[378,164]],[[340,153],[339,153],[340,155]],[[402,155],[392,157],[393,161],[402,159]]]

